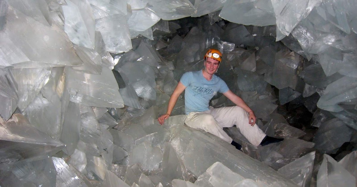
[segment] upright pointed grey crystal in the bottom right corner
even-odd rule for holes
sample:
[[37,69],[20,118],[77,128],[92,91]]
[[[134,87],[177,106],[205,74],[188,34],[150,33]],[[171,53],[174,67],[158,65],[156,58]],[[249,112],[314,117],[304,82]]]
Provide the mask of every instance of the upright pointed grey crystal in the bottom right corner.
[[355,186],[356,178],[331,156],[323,155],[317,173],[317,186]]

